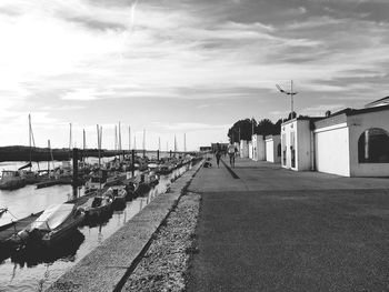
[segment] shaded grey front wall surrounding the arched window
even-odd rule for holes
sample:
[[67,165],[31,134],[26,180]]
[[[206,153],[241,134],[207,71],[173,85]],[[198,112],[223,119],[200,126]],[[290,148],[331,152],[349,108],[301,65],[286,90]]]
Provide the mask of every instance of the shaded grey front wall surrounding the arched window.
[[359,163],[358,140],[368,129],[380,128],[389,133],[389,110],[348,117],[350,128],[351,177],[389,177],[389,163]]

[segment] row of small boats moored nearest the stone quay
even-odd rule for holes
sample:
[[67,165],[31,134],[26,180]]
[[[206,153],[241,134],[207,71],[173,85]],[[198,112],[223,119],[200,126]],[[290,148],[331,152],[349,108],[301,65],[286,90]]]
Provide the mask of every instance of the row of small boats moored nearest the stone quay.
[[[190,160],[179,163],[169,163],[169,171],[181,167]],[[88,221],[107,217],[113,210],[126,208],[126,202],[147,194],[158,184],[161,171],[160,163],[156,168],[142,172],[134,178],[127,178],[126,173],[107,170],[94,172],[86,184],[84,202],[54,204],[47,208],[43,213],[29,226],[13,234],[8,245],[13,250],[22,250],[28,245],[52,245],[61,241],[70,231]],[[166,165],[163,165],[164,168]],[[94,180],[93,180],[94,179]]]

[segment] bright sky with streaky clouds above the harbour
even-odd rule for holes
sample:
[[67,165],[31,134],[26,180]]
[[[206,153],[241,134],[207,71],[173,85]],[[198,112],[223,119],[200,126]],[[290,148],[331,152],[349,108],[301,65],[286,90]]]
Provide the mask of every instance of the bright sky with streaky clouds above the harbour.
[[[389,95],[388,0],[1,0],[0,145],[197,150]],[[131,139],[129,139],[129,127]],[[131,140],[131,145],[130,145]]]

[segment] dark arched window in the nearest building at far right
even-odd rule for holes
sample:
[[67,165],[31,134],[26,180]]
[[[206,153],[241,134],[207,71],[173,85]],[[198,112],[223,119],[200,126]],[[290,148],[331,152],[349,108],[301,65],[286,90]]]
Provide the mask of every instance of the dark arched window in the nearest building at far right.
[[389,163],[389,134],[378,128],[366,130],[358,140],[359,163]]

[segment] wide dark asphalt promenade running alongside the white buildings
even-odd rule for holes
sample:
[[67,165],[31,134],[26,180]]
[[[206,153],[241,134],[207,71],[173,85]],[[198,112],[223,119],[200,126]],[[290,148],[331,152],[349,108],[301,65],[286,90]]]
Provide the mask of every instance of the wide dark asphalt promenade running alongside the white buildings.
[[389,179],[232,171],[201,169],[189,188],[202,203],[188,291],[389,291]]

